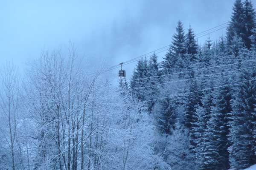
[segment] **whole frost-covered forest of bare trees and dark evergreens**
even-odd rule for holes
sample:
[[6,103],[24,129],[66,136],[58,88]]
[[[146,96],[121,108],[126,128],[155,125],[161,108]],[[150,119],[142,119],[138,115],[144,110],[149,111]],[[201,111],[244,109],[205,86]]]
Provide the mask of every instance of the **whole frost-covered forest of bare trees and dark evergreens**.
[[[70,43],[0,70],[0,170],[243,170],[256,164],[256,11],[236,0],[199,45],[177,20],[163,59],[131,78],[84,67]],[[65,52],[68,51],[68,52]],[[118,75],[115,75],[116,77]]]

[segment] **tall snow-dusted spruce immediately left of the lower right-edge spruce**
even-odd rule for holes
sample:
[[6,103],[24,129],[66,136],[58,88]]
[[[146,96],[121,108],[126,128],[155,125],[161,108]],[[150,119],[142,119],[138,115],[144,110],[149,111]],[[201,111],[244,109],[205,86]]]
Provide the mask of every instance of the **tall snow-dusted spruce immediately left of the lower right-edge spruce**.
[[[228,84],[226,79],[224,84]],[[207,121],[207,129],[204,134],[204,167],[211,170],[226,170],[228,164],[228,121],[232,111],[230,101],[232,89],[229,86],[220,88],[214,95],[212,110]]]

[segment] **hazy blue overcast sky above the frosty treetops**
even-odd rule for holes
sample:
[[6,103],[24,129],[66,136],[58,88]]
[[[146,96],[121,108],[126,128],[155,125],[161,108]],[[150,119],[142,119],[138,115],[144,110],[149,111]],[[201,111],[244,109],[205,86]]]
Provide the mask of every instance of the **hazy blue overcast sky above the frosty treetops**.
[[[195,33],[227,22],[234,0],[1,0],[0,62],[20,68],[43,48],[75,43],[109,66],[170,44],[178,20]],[[253,0],[255,6],[256,0]],[[225,29],[210,34],[218,39]],[[206,37],[200,38],[204,43]],[[160,55],[162,58],[163,55]],[[127,65],[128,76],[134,65]]]

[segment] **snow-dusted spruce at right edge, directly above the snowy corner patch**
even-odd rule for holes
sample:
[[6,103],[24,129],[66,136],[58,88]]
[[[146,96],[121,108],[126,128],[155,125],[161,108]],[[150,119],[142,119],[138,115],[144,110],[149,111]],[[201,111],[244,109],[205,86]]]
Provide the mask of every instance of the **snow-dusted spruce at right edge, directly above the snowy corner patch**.
[[[255,79],[255,71],[241,71],[239,82]],[[255,164],[253,151],[253,119],[252,113],[256,104],[256,82],[243,82],[238,85],[230,116],[229,161],[231,168],[244,169]]]

